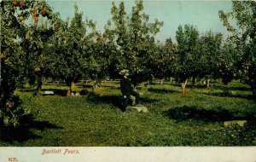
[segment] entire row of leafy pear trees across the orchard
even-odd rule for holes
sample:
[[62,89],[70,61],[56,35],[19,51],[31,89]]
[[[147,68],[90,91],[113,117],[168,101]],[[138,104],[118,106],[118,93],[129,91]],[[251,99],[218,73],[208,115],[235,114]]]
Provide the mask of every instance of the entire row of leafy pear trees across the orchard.
[[[44,1],[14,0],[1,2],[0,122],[17,125],[26,109],[14,95],[19,84],[28,81],[40,90],[43,78],[71,84],[81,78],[100,81],[119,78],[121,69],[129,69],[134,84],[152,78],[176,78],[186,85],[189,78],[247,78],[256,95],[255,2],[234,2],[233,12],[219,15],[232,32],[224,41],[222,34],[200,35],[195,26],[178,26],[177,43],[165,43],[154,37],[163,22],[149,22],[143,1],[135,2],[131,14],[125,3],[112,3],[111,20],[104,32],[96,31],[93,20],[83,20],[75,6],[72,19],[61,20]],[[229,16],[239,29],[229,24]]]

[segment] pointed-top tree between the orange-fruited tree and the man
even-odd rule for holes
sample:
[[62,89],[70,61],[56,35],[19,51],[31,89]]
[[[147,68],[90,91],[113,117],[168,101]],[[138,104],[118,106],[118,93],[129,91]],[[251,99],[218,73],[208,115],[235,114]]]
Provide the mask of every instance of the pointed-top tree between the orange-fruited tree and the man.
[[[86,51],[87,36],[86,24],[82,20],[83,14],[79,13],[78,6],[75,6],[74,17],[71,20],[61,20],[58,27],[55,27],[55,34],[50,38],[44,49],[47,61],[46,71],[52,78],[65,80],[71,88],[73,82],[77,82],[90,67]],[[70,90],[67,95],[71,95]]]

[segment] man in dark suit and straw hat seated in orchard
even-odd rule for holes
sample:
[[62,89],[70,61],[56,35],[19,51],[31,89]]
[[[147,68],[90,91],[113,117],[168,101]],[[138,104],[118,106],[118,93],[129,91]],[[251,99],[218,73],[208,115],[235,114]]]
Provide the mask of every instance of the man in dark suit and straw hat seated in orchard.
[[124,69],[119,72],[120,75],[122,75],[121,81],[120,81],[120,89],[123,95],[123,101],[122,101],[122,112],[126,111],[126,107],[128,105],[129,99],[131,95],[136,97],[135,104],[136,106],[140,106],[140,95],[133,89],[133,86],[131,84],[129,76],[129,71]]

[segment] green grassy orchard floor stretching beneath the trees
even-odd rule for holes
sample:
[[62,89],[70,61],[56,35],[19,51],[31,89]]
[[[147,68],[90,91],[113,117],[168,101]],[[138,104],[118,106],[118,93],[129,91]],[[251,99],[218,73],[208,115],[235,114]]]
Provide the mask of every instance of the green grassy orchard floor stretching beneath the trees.
[[[249,87],[234,81],[214,83],[210,90],[179,85],[142,86],[148,113],[119,110],[119,83],[102,84],[92,92],[76,84],[81,96],[64,96],[64,84],[44,84],[55,95],[32,97],[17,90],[33,119],[18,132],[9,131],[0,146],[243,146],[256,145],[256,101]],[[247,120],[243,127],[224,126],[226,120]],[[26,128],[26,129],[25,129]]]

